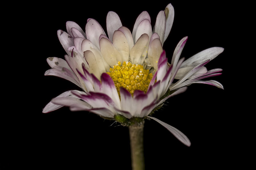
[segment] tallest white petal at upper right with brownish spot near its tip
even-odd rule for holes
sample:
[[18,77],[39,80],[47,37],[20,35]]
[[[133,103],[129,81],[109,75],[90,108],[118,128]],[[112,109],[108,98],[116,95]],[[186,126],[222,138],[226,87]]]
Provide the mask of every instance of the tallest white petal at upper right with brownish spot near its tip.
[[164,12],[166,17],[166,28],[165,28],[165,34],[164,34],[164,41],[165,41],[171,31],[173,18],[174,18],[174,9],[172,4],[168,4]]

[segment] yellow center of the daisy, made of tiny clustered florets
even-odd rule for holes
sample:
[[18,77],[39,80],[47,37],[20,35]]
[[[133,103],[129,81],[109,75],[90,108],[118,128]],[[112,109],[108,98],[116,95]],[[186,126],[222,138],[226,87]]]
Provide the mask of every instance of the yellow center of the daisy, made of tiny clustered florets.
[[135,90],[141,90],[145,93],[148,90],[148,85],[153,77],[149,70],[145,70],[143,66],[132,64],[131,62],[121,62],[109,69],[107,74],[113,79],[118,95],[120,96],[120,87],[128,90],[132,95]]

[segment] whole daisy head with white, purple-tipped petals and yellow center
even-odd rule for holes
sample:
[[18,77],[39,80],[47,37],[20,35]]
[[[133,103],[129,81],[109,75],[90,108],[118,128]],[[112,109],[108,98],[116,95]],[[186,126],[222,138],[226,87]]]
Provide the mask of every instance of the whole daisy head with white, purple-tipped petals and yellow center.
[[221,74],[221,69],[207,71],[204,65],[223,48],[209,48],[184,61],[184,58],[180,59],[188,39],[184,37],[176,46],[171,63],[168,63],[162,46],[172,28],[173,17],[173,7],[168,4],[164,11],[158,13],[152,30],[149,14],[143,11],[131,32],[122,25],[118,15],[110,11],[107,15],[108,36],[92,18],[87,20],[85,32],[76,23],[68,21],[67,32],[57,32],[67,52],[65,60],[48,58],[52,69],[45,75],[65,78],[82,91],[62,93],[52,99],[43,112],[69,106],[72,111],[91,111],[123,125],[148,117],[166,127],[185,145],[190,145],[183,133],[149,115],[192,83],[223,89],[217,81],[201,81]]

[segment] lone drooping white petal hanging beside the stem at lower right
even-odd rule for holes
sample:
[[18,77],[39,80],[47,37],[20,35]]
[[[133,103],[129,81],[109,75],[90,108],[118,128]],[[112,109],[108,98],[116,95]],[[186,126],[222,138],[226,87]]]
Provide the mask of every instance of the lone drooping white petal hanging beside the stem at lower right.
[[[149,116],[148,116],[149,117]],[[158,122],[159,124],[161,124],[162,126],[164,126],[168,131],[170,131],[177,139],[180,140],[180,142],[182,142],[184,145],[190,146],[191,143],[188,139],[188,137],[186,135],[184,135],[181,131],[179,131],[178,129],[176,129],[175,127],[172,127],[169,124],[166,124],[164,122],[162,122],[161,120],[155,118],[155,117],[149,117],[153,120],[155,120],[156,122]]]

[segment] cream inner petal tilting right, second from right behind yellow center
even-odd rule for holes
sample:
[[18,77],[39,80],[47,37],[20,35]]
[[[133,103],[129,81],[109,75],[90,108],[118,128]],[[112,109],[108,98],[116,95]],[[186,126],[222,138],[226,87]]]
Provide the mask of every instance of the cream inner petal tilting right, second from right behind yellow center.
[[145,51],[147,52],[148,50],[148,47],[147,47],[148,40],[149,40],[148,34],[143,34],[137,40],[135,45],[132,47],[130,56],[133,64],[138,64],[141,58],[146,57],[144,53]]

